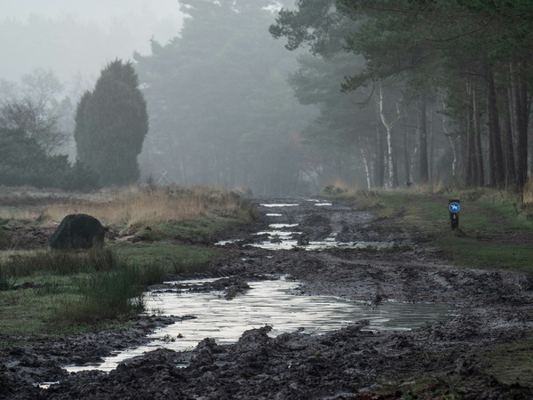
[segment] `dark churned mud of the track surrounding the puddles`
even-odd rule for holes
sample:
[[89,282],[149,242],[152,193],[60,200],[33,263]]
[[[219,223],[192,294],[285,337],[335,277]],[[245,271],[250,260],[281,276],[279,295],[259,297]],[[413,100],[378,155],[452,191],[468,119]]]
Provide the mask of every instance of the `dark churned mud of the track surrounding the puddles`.
[[[258,205],[266,201],[299,204],[282,211],[283,222],[298,223],[298,231],[306,232],[295,239],[323,240],[333,232],[343,242],[398,245],[387,251],[320,252],[247,246],[259,240],[253,232],[273,222],[264,217],[232,234],[241,241],[225,245],[226,257],[202,275],[220,276],[213,289],[225,289],[228,299],[246,291],[249,280],[288,274],[302,282],[298,292],[303,295],[335,295],[369,306],[387,299],[447,302],[458,306],[458,315],[410,332],[368,332],[359,321],[322,335],[290,332],[271,338],[264,326],[244,332],[233,345],[206,338],[193,351],[155,350],[109,373],[68,374],[60,368],[139,345],[155,325],[173,322],[139,317],[128,330],[29,338],[27,345],[0,350],[0,397],[401,398],[408,396],[405,384],[426,381],[418,398],[533,398],[529,382],[505,385],[490,376],[488,358],[482,356],[532,332],[530,275],[449,265],[443,254],[422,244],[423,237],[351,206],[317,207],[295,198],[261,199]],[[191,277],[200,275],[174,276]],[[36,388],[35,382],[43,381],[59,383]]]

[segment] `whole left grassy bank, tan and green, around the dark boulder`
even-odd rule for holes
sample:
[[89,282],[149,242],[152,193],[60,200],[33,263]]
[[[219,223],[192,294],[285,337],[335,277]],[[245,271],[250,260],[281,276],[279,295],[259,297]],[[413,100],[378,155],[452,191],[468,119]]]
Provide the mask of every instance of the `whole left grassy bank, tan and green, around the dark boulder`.
[[[91,214],[118,237],[99,250],[50,251],[26,245],[31,237],[22,245],[2,228],[22,224],[31,233],[69,213]],[[24,220],[13,218],[20,215]],[[217,257],[206,244],[254,218],[238,195],[212,188],[130,188],[42,207],[0,207],[0,216],[0,335],[86,331],[134,316],[147,285],[206,268]]]

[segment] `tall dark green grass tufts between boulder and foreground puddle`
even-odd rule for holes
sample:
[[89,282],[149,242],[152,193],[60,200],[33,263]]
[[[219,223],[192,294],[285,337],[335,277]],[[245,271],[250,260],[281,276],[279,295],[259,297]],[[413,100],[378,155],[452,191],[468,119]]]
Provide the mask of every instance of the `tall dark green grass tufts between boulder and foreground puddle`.
[[[161,264],[131,265],[108,249],[28,252],[0,262],[0,290],[12,289],[20,278],[31,280],[46,274],[34,295],[53,294],[62,299],[52,322],[87,323],[138,313],[144,307],[142,292],[146,286],[161,282],[166,273]],[[59,282],[57,276],[65,277],[62,284],[53,284]]]

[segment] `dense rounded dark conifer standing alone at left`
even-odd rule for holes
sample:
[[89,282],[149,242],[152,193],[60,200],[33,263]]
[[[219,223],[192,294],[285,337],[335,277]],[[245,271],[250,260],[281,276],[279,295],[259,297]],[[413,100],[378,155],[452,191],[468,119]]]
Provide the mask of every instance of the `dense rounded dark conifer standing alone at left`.
[[134,182],[139,179],[137,156],[147,131],[147,104],[131,62],[110,62],[77,106],[79,160],[96,172],[102,186]]

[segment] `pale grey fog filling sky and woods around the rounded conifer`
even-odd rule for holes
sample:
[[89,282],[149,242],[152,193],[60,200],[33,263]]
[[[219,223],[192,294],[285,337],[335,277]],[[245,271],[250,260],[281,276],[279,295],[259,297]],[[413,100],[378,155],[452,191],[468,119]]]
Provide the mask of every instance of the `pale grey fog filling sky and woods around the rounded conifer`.
[[[80,100],[110,63],[123,60],[135,70],[148,116],[131,183],[279,194],[437,181],[521,188],[529,108],[490,84],[511,82],[509,93],[520,98],[522,61],[495,51],[500,31],[491,25],[454,46],[434,40],[485,20],[482,8],[467,7],[463,27],[461,5],[399,7],[0,0],[0,128],[19,129],[56,157],[52,164],[66,165],[60,157],[67,156],[85,173],[75,140]],[[411,15],[424,18],[402,20]],[[449,25],[435,31],[436,16]],[[485,57],[493,57],[489,69]],[[5,132],[4,142],[14,140]],[[0,184],[28,184],[11,165],[2,168],[11,175],[0,173]]]

